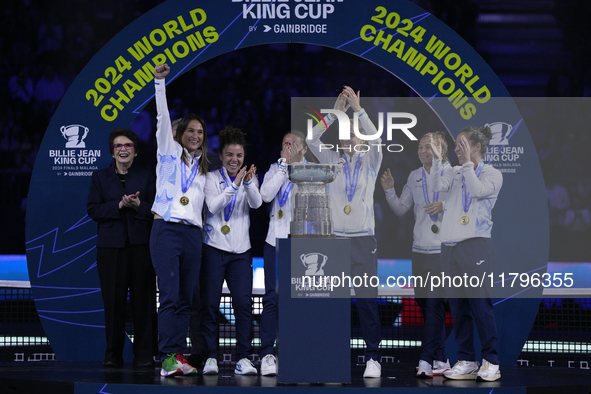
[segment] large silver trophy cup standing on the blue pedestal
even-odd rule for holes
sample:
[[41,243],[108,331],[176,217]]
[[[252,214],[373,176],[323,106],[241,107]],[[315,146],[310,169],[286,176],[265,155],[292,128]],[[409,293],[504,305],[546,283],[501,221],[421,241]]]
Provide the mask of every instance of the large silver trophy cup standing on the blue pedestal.
[[334,181],[340,164],[295,163],[289,179],[298,185],[290,223],[290,237],[334,238],[326,184]]

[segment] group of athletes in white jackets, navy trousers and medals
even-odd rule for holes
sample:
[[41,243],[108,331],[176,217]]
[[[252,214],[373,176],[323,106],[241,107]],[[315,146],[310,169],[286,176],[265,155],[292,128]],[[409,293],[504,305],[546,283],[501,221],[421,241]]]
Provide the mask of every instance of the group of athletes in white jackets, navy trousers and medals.
[[[289,236],[291,197],[297,192],[297,185],[289,180],[288,165],[305,161],[305,155],[310,152],[320,163],[344,161],[343,170],[327,186],[327,191],[334,233],[351,240],[352,276],[377,276],[373,195],[378,177],[388,203],[397,215],[411,209],[414,212],[413,275],[425,277],[429,271],[476,274],[494,270],[491,211],[502,186],[502,175],[482,161],[491,138],[489,128],[468,127],[459,133],[455,147],[459,166],[456,167],[451,167],[447,160],[445,135],[442,132],[424,135],[418,149],[422,166],[411,172],[398,197],[390,170],[379,176],[383,153],[375,149],[352,149],[364,142],[354,132],[353,123],[350,138],[340,141],[342,152],[320,149],[322,135],[336,120],[328,115],[326,124],[314,127],[309,140],[298,131],[284,136],[281,157],[270,166],[259,185],[256,167],[244,165],[246,142],[240,129],[228,126],[220,131],[222,167],[208,171],[204,120],[189,114],[173,128],[165,88],[165,77],[169,72],[167,64],[155,67],[158,163],[155,198],[151,205],[154,221],[149,238],[159,290],[158,354],[162,361],[162,376],[197,374],[197,369],[183,357],[192,304],[195,310],[196,286],[200,301],[197,330],[200,339],[193,341],[200,341],[202,345],[205,360],[202,373],[218,374],[218,314],[224,281],[230,290],[235,316],[238,361],[234,372],[243,375],[258,373],[247,357],[252,354],[253,271],[249,211],[259,208],[263,201],[271,203],[271,212],[264,245],[260,373],[265,376],[277,374],[278,363],[274,354],[278,309],[275,243],[276,239]],[[347,111],[349,108],[358,116],[361,135],[377,133],[361,107],[359,92],[344,86],[336,99],[335,109]],[[125,152],[134,144],[128,143],[125,149],[123,145],[114,145],[119,149],[117,152]],[[114,157],[117,152],[112,150]],[[139,201],[137,194],[132,197]],[[120,203],[119,209],[124,209],[125,204]],[[129,204],[139,210],[139,203],[137,206]],[[100,232],[99,222],[99,237]],[[103,277],[101,286],[102,281]],[[355,293],[366,343],[363,376],[379,378],[382,334],[377,289],[356,288]],[[455,298],[448,298],[445,294],[433,296],[416,288],[415,296],[425,320],[417,377],[443,375],[448,379],[486,381],[500,378],[496,323],[486,289],[481,294],[454,294]],[[453,367],[445,354],[447,302],[459,346],[459,361]],[[475,359],[474,323],[482,342],[482,365]]]

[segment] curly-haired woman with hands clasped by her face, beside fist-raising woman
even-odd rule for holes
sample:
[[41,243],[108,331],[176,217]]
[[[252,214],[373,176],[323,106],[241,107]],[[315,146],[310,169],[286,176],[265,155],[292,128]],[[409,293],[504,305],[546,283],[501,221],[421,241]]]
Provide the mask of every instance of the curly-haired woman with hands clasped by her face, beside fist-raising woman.
[[256,167],[246,171],[244,133],[228,126],[219,135],[222,168],[207,174],[205,231],[201,267],[201,332],[207,358],[204,375],[217,375],[218,315],[224,280],[228,283],[236,316],[239,375],[256,375],[247,358],[252,354],[252,254],[250,209],[263,203]]

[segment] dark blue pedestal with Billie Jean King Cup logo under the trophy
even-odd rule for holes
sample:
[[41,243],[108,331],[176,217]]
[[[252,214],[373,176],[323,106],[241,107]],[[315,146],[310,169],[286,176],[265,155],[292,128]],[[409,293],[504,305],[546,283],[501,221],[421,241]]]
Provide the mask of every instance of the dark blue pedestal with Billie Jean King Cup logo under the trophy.
[[350,276],[350,262],[349,239],[277,239],[279,383],[351,383],[351,290],[302,284]]

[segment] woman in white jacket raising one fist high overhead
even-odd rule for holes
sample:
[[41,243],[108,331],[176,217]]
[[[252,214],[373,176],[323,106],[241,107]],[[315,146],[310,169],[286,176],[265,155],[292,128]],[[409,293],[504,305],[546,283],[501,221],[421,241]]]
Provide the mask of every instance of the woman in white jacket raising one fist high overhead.
[[158,276],[158,332],[162,376],[194,375],[183,357],[191,300],[201,267],[201,210],[207,172],[207,134],[198,115],[185,116],[173,137],[166,101],[167,64],[155,68],[158,183],[152,206],[152,261]]

